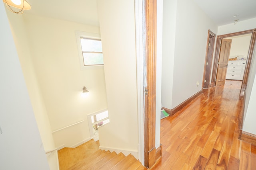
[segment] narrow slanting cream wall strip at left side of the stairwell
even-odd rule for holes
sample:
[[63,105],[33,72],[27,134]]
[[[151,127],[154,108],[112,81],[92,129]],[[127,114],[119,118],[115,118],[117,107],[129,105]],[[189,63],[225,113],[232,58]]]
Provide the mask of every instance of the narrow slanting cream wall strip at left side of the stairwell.
[[[20,59],[20,64],[22,67],[22,72],[26,81],[26,87],[28,88],[28,94],[30,96],[32,108],[36,117],[36,122],[42,138],[44,145],[44,150],[49,151],[55,149],[54,140],[52,137],[52,131],[44,106],[44,101],[42,100],[42,94],[38,87],[38,82],[36,80],[36,74],[34,71],[34,66],[32,63],[30,49],[28,46],[28,39],[26,35],[26,28],[23,21],[22,15],[14,14],[10,11],[6,11],[8,14],[8,19],[12,29],[12,35],[14,42],[16,44],[16,49]],[[51,170],[58,169],[58,153],[54,152],[47,155],[48,163]],[[51,162],[51,163],[50,163]]]

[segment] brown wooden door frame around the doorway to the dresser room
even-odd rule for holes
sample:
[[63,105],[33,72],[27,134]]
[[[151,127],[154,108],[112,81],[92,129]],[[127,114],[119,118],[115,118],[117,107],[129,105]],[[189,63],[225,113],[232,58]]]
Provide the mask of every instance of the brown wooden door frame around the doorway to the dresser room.
[[255,40],[256,40],[256,29],[249,29],[246,31],[239,31],[239,32],[228,33],[228,34],[224,34],[224,35],[217,35],[215,55],[214,55],[214,66],[213,66],[213,70],[212,70],[212,82],[214,83],[214,86],[216,86],[217,66],[218,66],[218,60],[220,57],[221,39],[227,38],[227,37],[233,37],[233,36],[237,36],[237,35],[249,34],[249,33],[252,33],[252,38],[251,38],[251,42],[250,42],[248,57],[246,60],[246,67],[245,67],[245,71],[244,71],[242,89],[244,89],[246,87],[247,81],[248,81],[249,70],[250,70],[250,64],[252,61],[252,55],[253,55],[253,51],[254,51]]

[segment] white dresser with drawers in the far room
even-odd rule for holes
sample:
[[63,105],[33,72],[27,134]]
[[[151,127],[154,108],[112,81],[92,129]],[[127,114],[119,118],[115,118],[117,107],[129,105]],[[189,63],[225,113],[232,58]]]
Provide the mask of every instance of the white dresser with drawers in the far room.
[[226,74],[226,79],[243,80],[245,65],[246,65],[246,60],[228,61],[228,70]]

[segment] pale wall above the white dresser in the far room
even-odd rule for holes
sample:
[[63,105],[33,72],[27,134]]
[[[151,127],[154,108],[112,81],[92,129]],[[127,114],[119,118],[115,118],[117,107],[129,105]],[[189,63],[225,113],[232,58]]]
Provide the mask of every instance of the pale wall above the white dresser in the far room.
[[227,39],[232,39],[229,58],[238,57],[238,59],[241,59],[242,56],[247,58],[251,37],[251,33],[236,37],[228,37]]

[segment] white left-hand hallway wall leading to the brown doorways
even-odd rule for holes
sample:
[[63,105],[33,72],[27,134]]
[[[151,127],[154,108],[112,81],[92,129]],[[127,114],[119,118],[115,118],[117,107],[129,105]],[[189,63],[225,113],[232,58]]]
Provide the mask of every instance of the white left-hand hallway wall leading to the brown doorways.
[[[175,5],[175,3],[173,5]],[[166,102],[164,101],[165,98],[162,98],[162,102],[165,103],[166,106],[171,106],[169,109],[178,106],[201,90],[208,29],[217,32],[216,24],[206,16],[195,2],[190,0],[177,1],[176,11],[176,28],[170,30],[175,31],[175,45],[171,39],[170,41],[172,43],[170,44],[170,47],[172,48],[170,49],[172,51],[170,51],[169,54],[171,57],[171,59],[169,59],[169,62],[171,63],[169,64],[170,66],[173,66],[173,78],[171,79],[172,82],[170,82],[170,84],[173,84],[173,87],[171,92],[170,90],[167,90],[168,95],[172,93],[172,100]],[[166,14],[168,14],[168,12],[164,12],[164,15]],[[168,18],[170,18],[170,16],[164,16],[164,24],[166,24],[165,22],[170,22],[169,20],[166,20]],[[173,21],[173,23],[170,24],[175,24],[175,18],[172,18],[171,21]],[[166,36],[165,32],[163,37]],[[167,35],[171,38],[171,34]],[[174,38],[174,33],[172,33],[172,38]],[[168,42],[163,41],[163,47],[167,46],[165,43]],[[174,59],[172,59],[173,53]],[[163,52],[163,63],[165,60],[164,58],[169,56]],[[162,72],[169,72],[170,74],[169,76],[163,74],[163,80],[172,77],[172,71],[164,65]],[[198,86],[197,82],[199,83]],[[165,90],[166,88],[162,89],[162,94],[165,93]],[[170,102],[172,103],[170,104]]]

